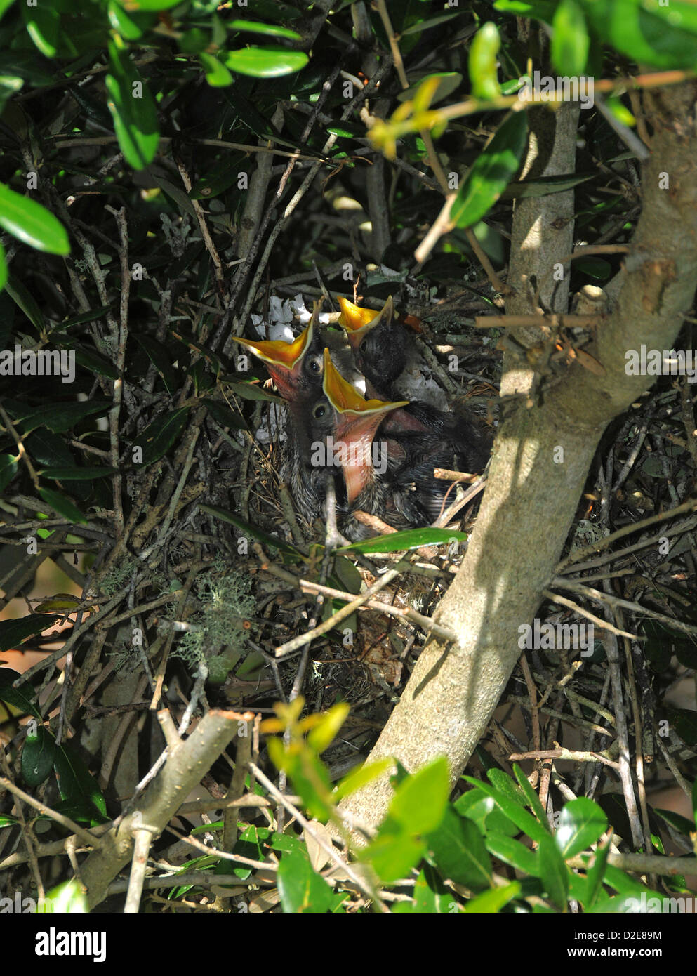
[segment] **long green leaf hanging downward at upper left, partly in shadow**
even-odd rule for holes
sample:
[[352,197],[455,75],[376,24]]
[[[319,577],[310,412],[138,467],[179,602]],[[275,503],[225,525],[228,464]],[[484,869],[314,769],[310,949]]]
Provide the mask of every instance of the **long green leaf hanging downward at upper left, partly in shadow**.
[[155,158],[160,140],[157,106],[128,53],[112,41],[108,48],[113,73],[106,75],[104,84],[116,138],[129,166],[143,170]]

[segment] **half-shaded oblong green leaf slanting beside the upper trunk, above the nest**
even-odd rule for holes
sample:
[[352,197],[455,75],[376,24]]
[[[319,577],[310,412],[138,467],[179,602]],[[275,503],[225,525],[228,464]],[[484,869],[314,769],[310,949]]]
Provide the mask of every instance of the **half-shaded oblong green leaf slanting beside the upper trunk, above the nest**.
[[502,122],[496,135],[477,156],[458,191],[450,210],[450,220],[459,227],[476,224],[491,210],[518,166],[527,142],[524,112],[513,112]]

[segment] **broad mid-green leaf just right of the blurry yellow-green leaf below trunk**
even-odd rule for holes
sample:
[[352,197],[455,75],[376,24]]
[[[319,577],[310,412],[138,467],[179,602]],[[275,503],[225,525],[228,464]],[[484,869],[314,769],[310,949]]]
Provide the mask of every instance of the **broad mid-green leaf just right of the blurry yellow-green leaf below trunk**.
[[435,866],[443,877],[474,891],[490,886],[491,860],[484,838],[472,820],[459,817],[449,806],[440,827],[429,835],[428,841]]

